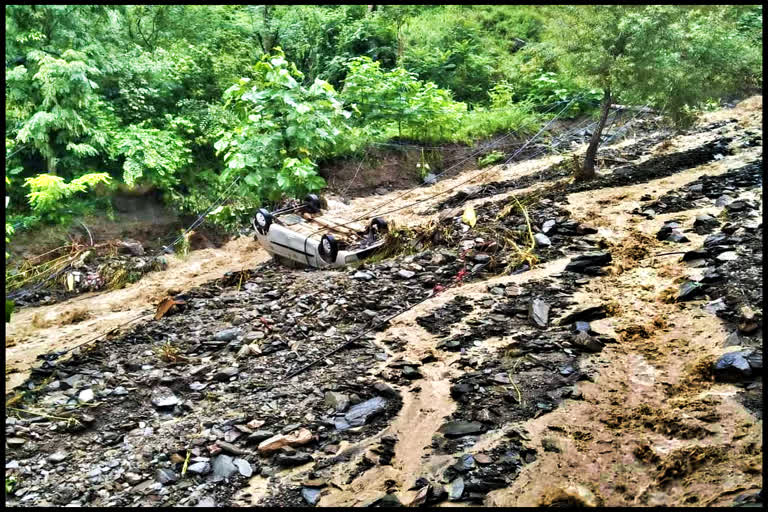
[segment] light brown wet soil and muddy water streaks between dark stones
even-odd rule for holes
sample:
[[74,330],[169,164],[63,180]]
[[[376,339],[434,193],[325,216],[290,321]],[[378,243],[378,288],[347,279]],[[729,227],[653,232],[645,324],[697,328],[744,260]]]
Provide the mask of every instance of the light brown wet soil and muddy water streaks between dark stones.
[[[705,121],[736,118],[739,126],[760,130],[761,105],[762,98],[752,98],[735,109],[708,114]],[[638,163],[697,148],[723,136],[711,131],[680,135],[670,143],[656,146]],[[587,378],[574,382],[577,393],[561,400],[551,410],[522,415],[524,403],[543,395],[536,389],[539,385],[536,377],[541,373],[525,370],[527,362],[523,362],[516,373],[509,372],[510,380],[517,381],[514,388],[520,399],[508,401],[501,412],[521,412],[518,418],[522,419],[505,422],[478,435],[473,444],[462,448],[462,453],[502,455],[506,451],[505,443],[512,439],[520,453],[535,451],[535,457],[521,464],[510,485],[485,494],[483,505],[723,506],[731,504],[737,493],[761,488],[762,420],[739,402],[739,389],[735,385],[715,383],[711,374],[712,362],[724,351],[726,326],[701,309],[703,300],[680,303],[660,298],[670,287],[676,290],[676,283],[696,270],[681,263],[679,258],[657,256],[666,252],[668,246],[656,240],[655,234],[665,221],[680,212],[650,219],[632,214],[646,194],[661,196],[702,175],[725,173],[761,154],[761,146],[746,149],[645,182],[572,192],[564,195],[562,203],[558,202],[568,210],[571,219],[595,226],[599,247],[613,256],[608,271],[582,283],[569,301],[574,307],[604,305],[609,316],[591,322],[591,327],[613,337],[615,342],[607,344],[599,353],[580,355],[574,364]],[[562,157],[546,157],[507,169],[491,168],[483,174],[465,173],[408,194],[389,193],[354,199],[349,204],[329,204],[338,210],[335,213],[352,218],[388,201],[387,208],[395,208],[426,199],[436,192],[447,196],[460,185],[467,186],[463,182],[471,175],[478,177],[478,183],[513,180],[560,160]],[[602,176],[608,174],[606,170],[601,172]],[[349,169],[344,173],[348,174]],[[562,179],[557,183],[564,186],[569,181]],[[467,204],[522,196],[544,186],[534,184],[519,190],[505,190]],[[426,206],[403,209],[392,218],[403,225],[436,220],[440,212]],[[714,207],[687,210],[685,227],[690,227],[693,215],[718,211]],[[703,237],[686,235],[690,242],[676,244],[674,250],[690,250],[701,245]],[[533,287],[539,282],[549,282],[552,286],[553,280],[564,274],[570,256],[582,249],[583,246],[576,247],[568,257],[552,258],[528,272],[502,274],[451,288],[396,317],[378,332],[371,343],[389,357],[368,370],[368,374],[386,380],[392,377],[393,370],[388,367],[392,359],[402,358],[423,361],[418,368],[422,378],[398,386],[402,404],[388,425],[369,437],[339,446],[338,453],[348,455],[347,460],[330,468],[318,505],[359,506],[385,493],[395,494],[401,503],[408,504],[419,493],[412,487],[417,478],[440,480],[456,459],[450,452],[436,448],[433,441],[440,437],[436,435],[438,429],[447,418],[467,411],[474,413],[482,407],[483,399],[472,404],[453,399],[451,389],[456,379],[470,372],[482,376],[483,364],[507,362],[508,349],[519,348],[533,336],[527,333],[517,336],[523,331],[501,332],[479,339],[474,346],[462,351],[447,352],[436,349],[439,337],[425,330],[417,319],[449,304],[459,295],[468,297],[473,304],[487,304],[483,301],[489,300],[489,290],[496,286],[503,285],[506,290]],[[9,338],[6,338],[7,360],[21,372],[11,374],[8,385],[12,387],[23,381],[38,354],[72,346],[94,330],[114,328],[137,313],[153,313],[152,306],[173,289],[187,289],[221,277],[227,270],[252,268],[266,259],[266,254],[256,249],[251,239],[241,238],[220,249],[195,251],[188,260],[176,261],[169,270],[149,274],[124,290],[22,311],[8,329],[15,345],[9,347]],[[326,277],[321,272],[296,276],[315,282]],[[78,315],[73,317],[68,313],[73,306],[82,307],[90,316],[75,322],[73,318]],[[564,309],[562,304],[559,306]],[[468,326],[477,325],[487,317],[490,309],[475,307],[460,322],[446,329],[450,334],[464,332]],[[552,314],[555,318],[565,311],[556,313]],[[35,327],[35,321],[50,327]],[[393,346],[399,348],[394,350]],[[563,356],[561,352],[564,351],[556,351],[549,360],[538,359],[544,363],[541,366],[559,364],[557,358]],[[526,354],[517,361],[531,357],[537,360],[538,356]],[[541,366],[539,371],[543,372]],[[553,368],[549,374],[556,371]],[[366,465],[362,460],[365,454],[387,435],[398,439],[390,464]],[[278,502],[284,497],[283,490],[290,488],[293,492],[301,482],[314,478],[311,470],[311,465],[306,464],[280,471],[270,479],[254,475],[234,503],[254,506],[269,500]]]

